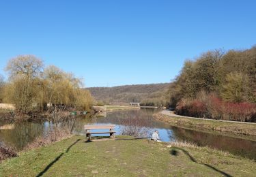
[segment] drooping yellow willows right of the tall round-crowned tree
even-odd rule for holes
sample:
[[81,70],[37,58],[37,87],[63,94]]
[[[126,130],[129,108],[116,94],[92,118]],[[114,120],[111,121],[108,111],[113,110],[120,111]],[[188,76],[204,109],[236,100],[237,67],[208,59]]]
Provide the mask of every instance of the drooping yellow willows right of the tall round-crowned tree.
[[58,67],[48,66],[44,69],[45,100],[55,108],[74,108],[87,110],[92,98],[89,91],[82,89],[81,79],[68,74]]

